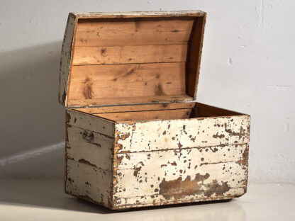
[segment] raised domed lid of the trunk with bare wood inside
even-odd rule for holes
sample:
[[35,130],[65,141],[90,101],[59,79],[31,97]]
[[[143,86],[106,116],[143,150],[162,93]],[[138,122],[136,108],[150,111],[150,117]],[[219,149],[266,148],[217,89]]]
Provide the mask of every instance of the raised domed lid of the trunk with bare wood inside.
[[206,13],[69,13],[63,106],[196,101]]

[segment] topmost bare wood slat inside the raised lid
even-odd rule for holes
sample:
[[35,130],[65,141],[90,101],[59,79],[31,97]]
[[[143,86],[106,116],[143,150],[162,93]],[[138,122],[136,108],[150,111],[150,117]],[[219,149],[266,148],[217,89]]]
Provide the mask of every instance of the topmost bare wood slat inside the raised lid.
[[75,47],[187,44],[193,23],[193,18],[84,20],[78,23]]

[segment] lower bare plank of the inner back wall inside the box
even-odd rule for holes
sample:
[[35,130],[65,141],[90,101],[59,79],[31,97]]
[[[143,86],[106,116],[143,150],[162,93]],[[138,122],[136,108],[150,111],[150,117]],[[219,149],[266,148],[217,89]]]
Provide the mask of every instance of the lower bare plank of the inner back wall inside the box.
[[165,111],[136,111],[136,112],[118,112],[118,113],[96,113],[94,115],[106,118],[116,122],[123,121],[141,121],[141,120],[168,120],[168,119],[187,119],[191,109],[177,109]]

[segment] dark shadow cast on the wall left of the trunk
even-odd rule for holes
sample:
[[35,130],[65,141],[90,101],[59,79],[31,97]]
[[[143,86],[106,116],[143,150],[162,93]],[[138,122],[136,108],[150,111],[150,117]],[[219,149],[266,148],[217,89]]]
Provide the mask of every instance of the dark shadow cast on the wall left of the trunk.
[[62,41],[0,53],[0,176],[63,176]]

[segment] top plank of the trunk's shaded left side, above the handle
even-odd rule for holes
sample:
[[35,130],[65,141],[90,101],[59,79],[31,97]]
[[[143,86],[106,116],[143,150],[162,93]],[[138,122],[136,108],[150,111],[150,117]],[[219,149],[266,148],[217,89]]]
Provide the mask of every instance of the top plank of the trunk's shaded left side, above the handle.
[[89,130],[90,132],[99,132],[108,137],[113,137],[114,135],[113,122],[97,118],[87,113],[67,109],[66,123],[77,128]]

